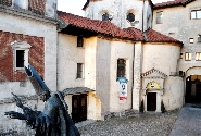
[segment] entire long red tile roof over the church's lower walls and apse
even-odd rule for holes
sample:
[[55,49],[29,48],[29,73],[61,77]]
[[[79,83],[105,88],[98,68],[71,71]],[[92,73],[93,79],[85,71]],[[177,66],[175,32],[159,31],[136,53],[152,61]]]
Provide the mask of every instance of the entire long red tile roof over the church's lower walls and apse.
[[118,37],[118,38],[127,38],[133,40],[145,40],[145,41],[155,41],[155,42],[179,42],[181,41],[176,40],[169,36],[165,36],[159,32],[155,32],[151,28],[142,33],[139,29],[136,28],[124,28],[121,29],[111,22],[108,21],[98,21],[98,20],[90,20],[87,17],[81,17],[78,15],[74,15],[71,13],[65,13],[62,11],[58,11],[58,15],[60,18],[62,18],[64,22],[66,22],[70,25],[73,25],[75,27],[79,27],[83,29],[110,35],[112,37]]

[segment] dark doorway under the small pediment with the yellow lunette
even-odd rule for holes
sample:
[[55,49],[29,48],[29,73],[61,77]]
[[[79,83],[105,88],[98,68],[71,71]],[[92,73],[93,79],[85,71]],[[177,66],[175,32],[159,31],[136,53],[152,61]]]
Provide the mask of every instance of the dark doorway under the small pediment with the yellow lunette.
[[147,95],[147,111],[156,110],[156,92],[148,92]]

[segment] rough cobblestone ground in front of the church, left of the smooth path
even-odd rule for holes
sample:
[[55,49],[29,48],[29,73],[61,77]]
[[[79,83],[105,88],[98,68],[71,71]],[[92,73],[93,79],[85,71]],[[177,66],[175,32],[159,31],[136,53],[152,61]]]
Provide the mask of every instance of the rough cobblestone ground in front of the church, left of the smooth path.
[[133,116],[96,121],[78,127],[81,136],[168,136],[178,110],[165,113],[135,113]]

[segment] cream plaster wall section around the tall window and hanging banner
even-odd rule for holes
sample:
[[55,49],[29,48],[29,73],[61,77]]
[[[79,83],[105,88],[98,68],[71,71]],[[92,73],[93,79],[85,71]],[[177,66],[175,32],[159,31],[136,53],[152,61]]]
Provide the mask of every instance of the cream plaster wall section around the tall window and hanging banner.
[[[116,81],[118,59],[126,60],[126,79],[128,79],[126,103],[120,103],[120,83]],[[133,60],[134,60],[133,42],[111,41],[110,111],[112,112],[131,109]]]

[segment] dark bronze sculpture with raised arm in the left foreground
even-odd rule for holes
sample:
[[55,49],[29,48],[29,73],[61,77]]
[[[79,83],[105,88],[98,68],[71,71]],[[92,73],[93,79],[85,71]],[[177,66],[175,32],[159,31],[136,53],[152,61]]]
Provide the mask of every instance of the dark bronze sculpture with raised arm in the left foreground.
[[23,106],[21,99],[14,95],[16,106],[23,109],[24,114],[9,111],[5,115],[11,119],[25,120],[27,127],[36,129],[35,136],[80,136],[77,127],[74,125],[64,96],[60,91],[51,91],[35,69],[29,64],[25,66],[36,94],[46,101],[43,111],[35,111]]

